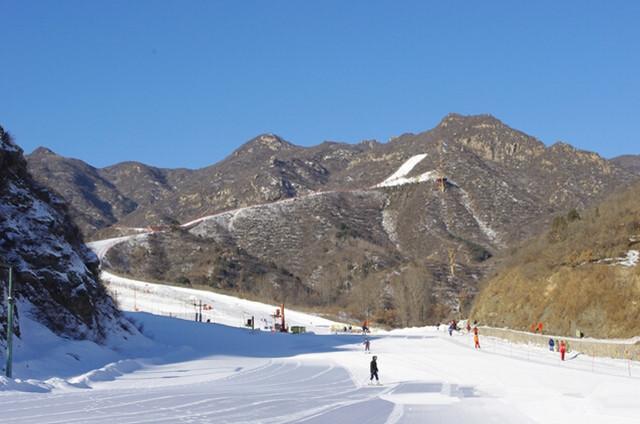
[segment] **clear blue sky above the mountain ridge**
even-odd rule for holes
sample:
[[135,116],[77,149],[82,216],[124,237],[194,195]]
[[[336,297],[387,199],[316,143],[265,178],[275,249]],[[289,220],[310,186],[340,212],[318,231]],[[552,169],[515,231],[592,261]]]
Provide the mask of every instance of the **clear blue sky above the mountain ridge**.
[[638,1],[0,0],[0,124],[95,166],[197,168],[273,132],[386,141],[491,113],[640,153]]

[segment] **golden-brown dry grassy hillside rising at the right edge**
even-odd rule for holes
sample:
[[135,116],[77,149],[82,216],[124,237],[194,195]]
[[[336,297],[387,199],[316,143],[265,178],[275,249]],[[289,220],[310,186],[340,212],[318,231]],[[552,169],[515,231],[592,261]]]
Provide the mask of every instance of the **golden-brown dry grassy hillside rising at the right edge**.
[[640,250],[640,242],[630,241],[640,238],[640,185],[580,215],[554,220],[545,234],[502,258],[473,319],[515,329],[543,322],[546,331],[564,335],[640,334],[640,265],[599,262]]

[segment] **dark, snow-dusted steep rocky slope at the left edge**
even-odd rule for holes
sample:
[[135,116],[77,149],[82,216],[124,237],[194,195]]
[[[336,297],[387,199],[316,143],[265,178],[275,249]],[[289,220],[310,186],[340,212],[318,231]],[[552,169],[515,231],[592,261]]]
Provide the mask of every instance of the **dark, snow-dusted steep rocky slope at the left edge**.
[[6,282],[6,267],[13,267],[19,312],[66,337],[99,342],[123,331],[128,324],[100,284],[97,257],[66,204],[32,179],[22,150],[2,127],[0,143],[0,279]]

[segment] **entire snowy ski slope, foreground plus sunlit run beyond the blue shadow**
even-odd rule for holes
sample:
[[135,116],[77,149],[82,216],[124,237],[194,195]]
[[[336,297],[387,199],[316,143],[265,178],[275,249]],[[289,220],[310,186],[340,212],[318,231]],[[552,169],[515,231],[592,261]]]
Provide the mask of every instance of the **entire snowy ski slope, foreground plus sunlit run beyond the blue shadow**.
[[[102,257],[120,241],[93,247]],[[18,378],[0,378],[2,423],[640,421],[637,362],[575,352],[562,362],[482,336],[475,350],[468,334],[408,328],[371,336],[382,384],[369,385],[362,336],[331,334],[332,321],[287,311],[316,334],[252,331],[244,318],[268,319],[274,305],[103,278],[142,334],[96,346],[27,320]],[[194,300],[211,303],[211,323],[192,320]]]

